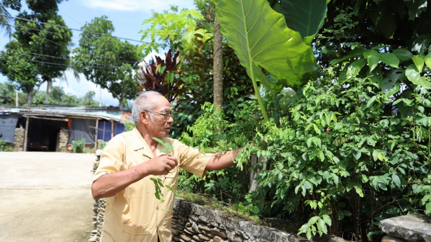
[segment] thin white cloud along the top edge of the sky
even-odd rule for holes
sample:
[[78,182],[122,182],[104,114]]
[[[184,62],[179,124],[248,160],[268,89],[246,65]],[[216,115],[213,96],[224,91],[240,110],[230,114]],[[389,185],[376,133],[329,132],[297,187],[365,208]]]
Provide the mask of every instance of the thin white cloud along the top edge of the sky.
[[90,8],[104,8],[120,11],[148,11],[160,12],[168,10],[169,5],[178,5],[181,8],[194,8],[193,0],[81,0]]

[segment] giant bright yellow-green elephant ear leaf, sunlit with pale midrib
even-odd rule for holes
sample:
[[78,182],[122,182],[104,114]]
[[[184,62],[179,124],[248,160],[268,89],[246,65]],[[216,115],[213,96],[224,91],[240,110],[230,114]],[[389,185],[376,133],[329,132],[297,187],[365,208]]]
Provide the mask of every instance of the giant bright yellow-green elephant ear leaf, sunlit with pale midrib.
[[[317,72],[311,47],[266,0],[216,0],[216,13],[221,32],[252,80],[258,66],[275,84],[298,88],[310,78],[307,74]],[[274,90],[274,85],[263,85]]]

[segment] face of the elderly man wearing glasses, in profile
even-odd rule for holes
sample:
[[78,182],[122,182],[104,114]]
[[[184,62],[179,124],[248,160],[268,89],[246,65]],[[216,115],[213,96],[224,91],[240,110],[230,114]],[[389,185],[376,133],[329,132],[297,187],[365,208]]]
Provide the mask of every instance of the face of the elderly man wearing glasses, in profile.
[[[170,103],[165,97],[160,95],[151,96],[151,101],[156,104],[156,107],[152,111],[146,111],[148,115],[146,125],[148,135],[159,139],[168,137],[173,118],[170,115],[166,118],[163,114],[172,113]],[[152,120],[150,115],[152,116]]]

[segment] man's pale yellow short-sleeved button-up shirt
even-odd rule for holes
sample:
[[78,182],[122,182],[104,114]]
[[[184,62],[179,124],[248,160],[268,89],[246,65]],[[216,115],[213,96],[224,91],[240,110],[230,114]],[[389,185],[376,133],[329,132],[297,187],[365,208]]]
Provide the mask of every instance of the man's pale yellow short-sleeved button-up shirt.
[[[171,242],[171,217],[174,194],[162,188],[163,203],[155,193],[154,182],[150,178],[161,178],[165,185],[176,189],[178,169],[181,167],[197,176],[204,176],[210,156],[200,154],[197,149],[186,146],[176,139],[163,138],[173,146],[172,155],[178,166],[165,176],[146,176],[129,185],[113,197],[106,198],[106,211],[101,242]],[[156,156],[168,154],[160,152],[165,147],[158,144]],[[93,180],[107,173],[127,170],[153,158],[144,138],[135,128],[111,139],[103,149]]]

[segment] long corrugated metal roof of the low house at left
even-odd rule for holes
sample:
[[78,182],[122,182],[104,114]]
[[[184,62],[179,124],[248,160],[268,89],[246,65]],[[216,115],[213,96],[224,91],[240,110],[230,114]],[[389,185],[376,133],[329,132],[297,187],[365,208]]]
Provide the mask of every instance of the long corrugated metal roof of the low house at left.
[[6,108],[0,107],[0,114],[17,113],[22,115],[87,117],[102,118],[120,122],[122,110],[115,108],[85,108],[85,107],[35,107],[35,108]]

